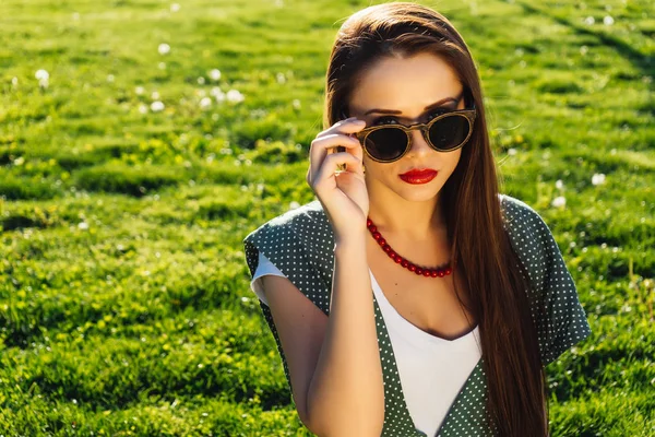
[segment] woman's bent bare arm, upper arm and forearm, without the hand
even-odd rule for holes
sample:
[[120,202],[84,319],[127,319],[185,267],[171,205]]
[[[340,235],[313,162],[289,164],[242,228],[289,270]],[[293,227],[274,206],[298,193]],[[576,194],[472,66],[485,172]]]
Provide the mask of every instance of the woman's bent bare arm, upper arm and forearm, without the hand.
[[264,294],[302,423],[320,437],[380,436],[382,367],[364,236],[335,246],[330,317],[287,277]]

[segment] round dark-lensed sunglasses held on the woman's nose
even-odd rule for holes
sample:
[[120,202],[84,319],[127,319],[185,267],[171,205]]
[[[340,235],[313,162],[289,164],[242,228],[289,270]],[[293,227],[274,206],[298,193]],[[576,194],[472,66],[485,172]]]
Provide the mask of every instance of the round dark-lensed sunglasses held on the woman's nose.
[[[464,94],[457,98],[457,105]],[[420,130],[426,142],[438,152],[452,152],[462,147],[471,138],[476,109],[458,109],[440,114],[427,123],[380,125],[365,128],[355,133],[371,160],[393,163],[412,149],[413,130]]]

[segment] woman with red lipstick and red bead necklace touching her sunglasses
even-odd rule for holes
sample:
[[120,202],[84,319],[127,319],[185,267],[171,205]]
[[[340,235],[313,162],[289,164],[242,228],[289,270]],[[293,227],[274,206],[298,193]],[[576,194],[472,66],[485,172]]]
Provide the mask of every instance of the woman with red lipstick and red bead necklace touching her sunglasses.
[[415,3],[352,15],[324,116],[318,200],[245,239],[301,421],[320,436],[547,436],[544,366],[591,330],[548,226],[498,192],[460,34]]

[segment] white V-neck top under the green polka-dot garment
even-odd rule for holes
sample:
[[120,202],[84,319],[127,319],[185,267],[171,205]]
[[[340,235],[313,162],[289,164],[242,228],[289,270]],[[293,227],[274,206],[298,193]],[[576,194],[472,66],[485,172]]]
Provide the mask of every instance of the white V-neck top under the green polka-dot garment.
[[[269,305],[261,276],[285,276],[260,251],[251,290]],[[400,315],[369,269],[371,285],[396,358],[409,415],[419,430],[437,434],[441,422],[481,357],[478,327],[455,340],[429,334]]]

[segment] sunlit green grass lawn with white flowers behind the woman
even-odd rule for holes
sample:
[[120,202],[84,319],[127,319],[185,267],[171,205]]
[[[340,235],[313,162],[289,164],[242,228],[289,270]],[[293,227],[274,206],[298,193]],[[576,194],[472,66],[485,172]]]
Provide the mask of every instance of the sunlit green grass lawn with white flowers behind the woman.
[[[309,435],[241,240],[314,199],[331,44],[369,2],[180,3],[0,3],[1,435]],[[553,436],[655,435],[650,3],[425,2],[473,51],[502,191],[549,224],[592,326],[547,369]]]

